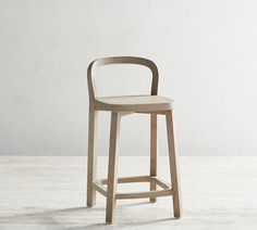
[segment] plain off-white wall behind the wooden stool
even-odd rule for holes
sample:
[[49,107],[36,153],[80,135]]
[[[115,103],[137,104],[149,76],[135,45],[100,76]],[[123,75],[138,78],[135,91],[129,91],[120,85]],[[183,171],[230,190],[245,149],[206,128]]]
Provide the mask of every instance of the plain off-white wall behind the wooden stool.
[[[0,154],[86,154],[88,63],[139,55],[158,64],[159,92],[175,100],[181,155],[257,155],[256,8],[254,0],[0,0]],[[107,122],[103,114],[102,155]],[[148,154],[148,122],[123,119],[121,154]]]

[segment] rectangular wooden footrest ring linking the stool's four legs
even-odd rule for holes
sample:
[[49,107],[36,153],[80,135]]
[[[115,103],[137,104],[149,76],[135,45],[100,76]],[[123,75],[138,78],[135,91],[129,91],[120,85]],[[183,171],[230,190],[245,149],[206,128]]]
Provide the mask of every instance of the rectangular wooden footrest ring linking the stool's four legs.
[[[157,186],[161,187],[162,190],[156,191],[147,191],[147,192],[134,192],[134,193],[117,193],[115,200],[122,199],[144,199],[144,197],[157,197],[157,196],[166,196],[166,195],[173,195],[173,190],[170,186],[157,178],[151,176],[138,176],[138,177],[123,177],[118,178],[118,183],[133,183],[133,182],[155,182]],[[107,189],[105,184],[108,183],[107,179],[103,180],[96,180],[93,182],[95,189],[101,193],[102,195],[107,196]]]

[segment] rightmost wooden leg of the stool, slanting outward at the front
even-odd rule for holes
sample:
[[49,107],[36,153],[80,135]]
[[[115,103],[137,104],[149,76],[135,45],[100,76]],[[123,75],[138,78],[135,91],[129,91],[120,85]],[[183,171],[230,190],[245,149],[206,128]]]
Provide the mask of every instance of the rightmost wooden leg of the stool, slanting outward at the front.
[[169,146],[169,159],[170,159],[170,174],[171,174],[171,184],[173,194],[173,212],[174,217],[181,217],[181,201],[180,201],[180,187],[179,187],[179,175],[178,175],[178,164],[175,156],[175,145],[174,145],[174,133],[173,133],[173,119],[172,111],[166,114],[167,122],[167,135],[168,135],[168,146]]

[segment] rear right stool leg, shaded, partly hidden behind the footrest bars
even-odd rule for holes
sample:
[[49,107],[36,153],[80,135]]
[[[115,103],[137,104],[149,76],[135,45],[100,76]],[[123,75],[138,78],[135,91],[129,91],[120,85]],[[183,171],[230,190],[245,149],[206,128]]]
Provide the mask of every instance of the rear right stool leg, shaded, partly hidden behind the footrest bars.
[[[157,176],[157,114],[150,114],[150,176]],[[156,183],[150,182],[150,191],[156,190]],[[150,197],[156,202],[156,197]]]

